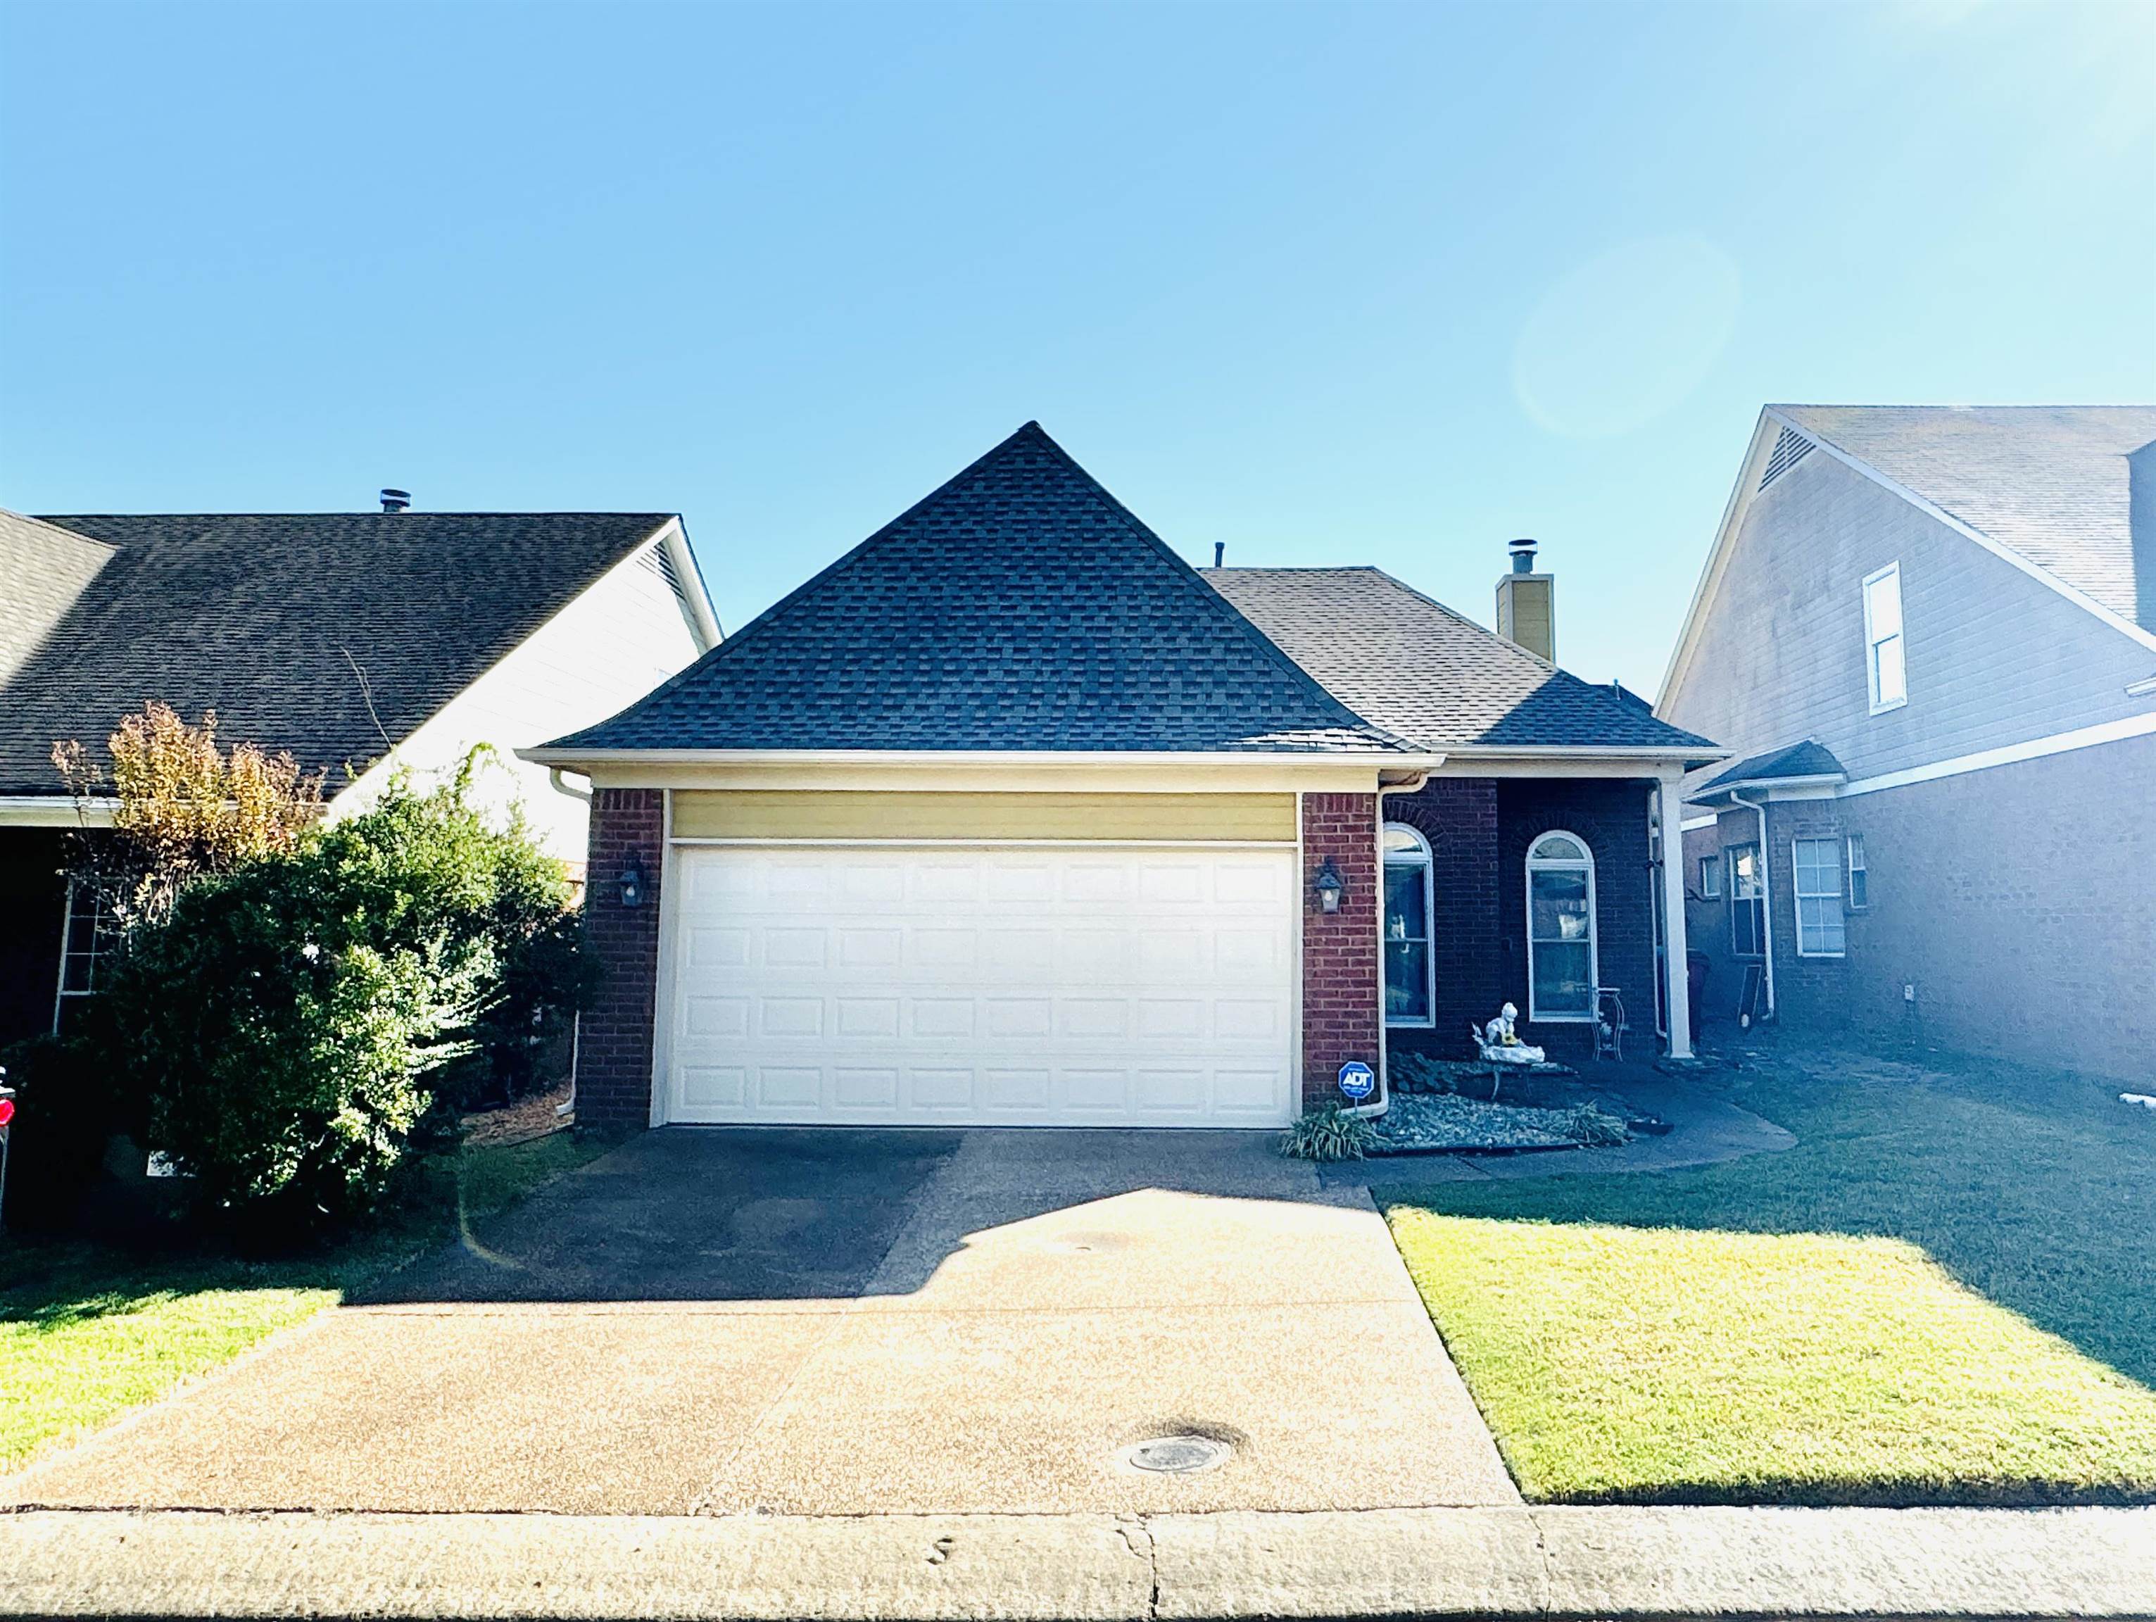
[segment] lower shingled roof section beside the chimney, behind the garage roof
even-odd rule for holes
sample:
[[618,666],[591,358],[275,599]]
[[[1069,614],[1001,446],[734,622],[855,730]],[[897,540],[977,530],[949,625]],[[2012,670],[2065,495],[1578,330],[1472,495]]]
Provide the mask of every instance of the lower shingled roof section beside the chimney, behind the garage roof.
[[1701,748],[1382,569],[1207,569],[1341,703],[1416,748]]

